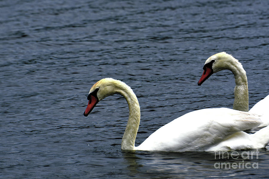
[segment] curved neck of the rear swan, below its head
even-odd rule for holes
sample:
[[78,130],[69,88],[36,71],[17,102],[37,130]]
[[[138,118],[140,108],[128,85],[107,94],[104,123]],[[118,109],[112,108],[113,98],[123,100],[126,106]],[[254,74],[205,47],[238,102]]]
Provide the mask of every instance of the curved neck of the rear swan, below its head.
[[236,87],[234,88],[233,109],[248,112],[248,87],[246,71],[242,64],[237,60],[232,64],[230,69],[235,78]]

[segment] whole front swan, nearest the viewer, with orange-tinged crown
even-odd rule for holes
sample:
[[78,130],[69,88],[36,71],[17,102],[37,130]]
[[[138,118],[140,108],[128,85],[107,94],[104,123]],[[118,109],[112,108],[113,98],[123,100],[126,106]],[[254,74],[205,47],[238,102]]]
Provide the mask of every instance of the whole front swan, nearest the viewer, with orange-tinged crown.
[[[189,112],[152,133],[143,143],[135,146],[135,138],[140,123],[140,107],[133,90],[124,82],[113,78],[104,78],[95,83],[88,94],[88,105],[84,116],[92,111],[96,104],[109,95],[122,95],[129,106],[129,120],[123,134],[121,149],[143,151],[209,151],[222,149],[226,138],[237,132],[258,126],[259,115],[228,108],[200,109]],[[267,134],[269,127],[260,132],[259,136]],[[246,134],[249,148],[264,148],[269,142],[267,138],[257,140],[252,137],[258,134]],[[239,137],[240,138],[240,137]],[[232,141],[233,142],[233,141]],[[231,144],[233,144],[230,142]],[[229,143],[229,142],[228,142]],[[266,143],[266,144],[265,144]],[[216,147],[219,145],[218,147]],[[225,146],[227,144],[225,143]],[[236,148],[236,146],[233,146]],[[241,149],[242,146],[238,146]],[[236,148],[237,149],[237,148]]]

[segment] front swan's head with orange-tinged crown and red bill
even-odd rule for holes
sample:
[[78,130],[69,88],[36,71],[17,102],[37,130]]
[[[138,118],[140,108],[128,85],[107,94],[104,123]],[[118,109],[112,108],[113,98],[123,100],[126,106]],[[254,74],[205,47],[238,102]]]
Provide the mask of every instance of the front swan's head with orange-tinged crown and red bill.
[[87,99],[89,100],[84,116],[88,116],[96,104],[106,98],[107,96],[118,93],[118,86],[123,83],[113,78],[103,78],[97,81],[89,92]]

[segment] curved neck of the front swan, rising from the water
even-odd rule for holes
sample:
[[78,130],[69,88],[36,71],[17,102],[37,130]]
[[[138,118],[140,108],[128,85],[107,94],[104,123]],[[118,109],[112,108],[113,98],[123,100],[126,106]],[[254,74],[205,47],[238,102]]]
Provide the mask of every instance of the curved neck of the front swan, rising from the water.
[[117,93],[123,95],[129,106],[129,120],[121,141],[121,149],[134,150],[135,138],[140,123],[139,103],[133,90],[123,82],[117,88]]

